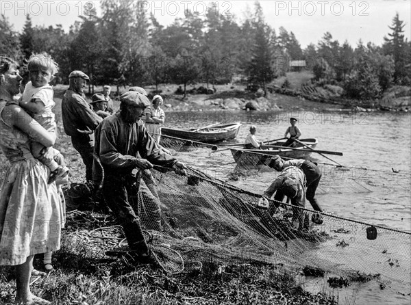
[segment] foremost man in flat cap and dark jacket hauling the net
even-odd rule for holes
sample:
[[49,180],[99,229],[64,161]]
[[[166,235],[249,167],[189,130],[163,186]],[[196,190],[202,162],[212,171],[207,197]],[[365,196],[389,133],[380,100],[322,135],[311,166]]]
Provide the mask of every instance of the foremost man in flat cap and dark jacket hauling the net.
[[103,196],[123,227],[130,249],[127,256],[137,263],[151,263],[151,251],[130,204],[137,201],[140,171],[156,164],[186,174],[186,167],[160,149],[140,120],[150,106],[149,99],[138,92],[125,92],[120,101],[120,111],[96,129],[95,168],[97,163],[103,167]]

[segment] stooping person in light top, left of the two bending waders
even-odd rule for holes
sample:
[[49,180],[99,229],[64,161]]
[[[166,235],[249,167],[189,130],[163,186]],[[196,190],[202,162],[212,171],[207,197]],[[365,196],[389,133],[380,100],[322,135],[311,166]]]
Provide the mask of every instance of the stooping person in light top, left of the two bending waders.
[[[290,198],[292,205],[306,208],[305,187],[306,175],[301,168],[289,166],[285,168],[264,191],[264,196],[271,198],[275,193],[275,208],[279,207],[280,202],[284,199],[284,195]],[[269,207],[269,210],[273,211],[273,207]],[[302,209],[293,208],[292,213],[292,226],[298,228],[298,230],[303,230],[306,212]]]

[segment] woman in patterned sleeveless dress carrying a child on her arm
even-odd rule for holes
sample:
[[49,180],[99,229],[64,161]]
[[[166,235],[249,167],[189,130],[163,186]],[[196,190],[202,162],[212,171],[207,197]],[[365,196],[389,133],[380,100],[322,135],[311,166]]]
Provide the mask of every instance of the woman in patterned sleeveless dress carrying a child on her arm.
[[17,304],[48,304],[29,289],[33,258],[60,248],[64,220],[58,189],[47,183],[50,169],[31,148],[32,142],[49,148],[56,136],[13,100],[20,83],[16,62],[0,57],[0,147],[10,161],[1,184],[0,265],[16,266]]

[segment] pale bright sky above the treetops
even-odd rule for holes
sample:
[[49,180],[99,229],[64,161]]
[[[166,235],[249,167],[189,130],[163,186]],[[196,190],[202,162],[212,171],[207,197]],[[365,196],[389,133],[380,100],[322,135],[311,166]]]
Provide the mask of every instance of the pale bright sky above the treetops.
[[[216,14],[234,14],[241,23],[247,8],[253,12],[254,1],[214,1]],[[188,9],[200,15],[205,14],[210,1],[144,1],[141,10],[152,12],[158,21],[166,26],[176,17],[184,18]],[[325,32],[329,31],[334,40],[343,44],[345,40],[356,47],[362,40],[364,44],[373,42],[381,45],[384,36],[390,32],[393,17],[398,12],[400,20],[406,23],[405,36],[411,40],[411,1],[373,0],[373,1],[260,1],[266,22],[279,33],[279,27],[292,31],[304,49],[308,44],[317,44]],[[84,16],[86,8],[97,8],[99,1],[5,1],[0,0],[0,13],[8,17],[15,31],[21,31],[27,14],[33,25],[61,24],[68,31],[78,16]]]

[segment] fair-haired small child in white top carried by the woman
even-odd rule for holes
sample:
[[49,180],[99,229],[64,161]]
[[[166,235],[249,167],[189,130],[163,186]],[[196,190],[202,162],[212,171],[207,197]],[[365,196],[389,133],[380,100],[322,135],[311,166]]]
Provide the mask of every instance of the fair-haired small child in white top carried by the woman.
[[[29,82],[25,85],[20,106],[49,133],[56,133],[54,114],[51,109],[55,106],[53,101],[53,88],[49,82],[53,80],[58,71],[58,64],[46,53],[32,55],[27,65],[29,70]],[[45,164],[51,174],[48,183],[53,183],[57,178],[63,178],[69,174],[69,168],[58,165],[53,158],[44,156],[45,151],[53,148],[45,148],[38,142],[32,142],[32,155]]]

